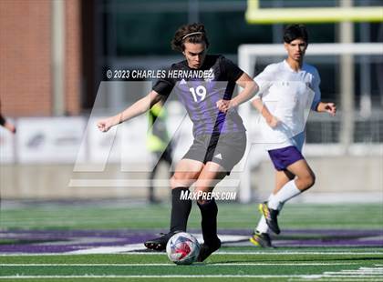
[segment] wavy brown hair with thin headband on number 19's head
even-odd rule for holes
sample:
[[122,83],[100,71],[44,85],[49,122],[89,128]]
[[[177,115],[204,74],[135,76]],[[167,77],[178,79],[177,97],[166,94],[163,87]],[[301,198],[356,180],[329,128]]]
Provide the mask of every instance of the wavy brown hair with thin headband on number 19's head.
[[[192,33],[196,33],[191,35]],[[206,36],[205,26],[202,24],[182,25],[174,34],[171,40],[171,48],[176,51],[183,52],[185,49],[185,42],[190,43],[204,43],[209,47],[209,40]]]

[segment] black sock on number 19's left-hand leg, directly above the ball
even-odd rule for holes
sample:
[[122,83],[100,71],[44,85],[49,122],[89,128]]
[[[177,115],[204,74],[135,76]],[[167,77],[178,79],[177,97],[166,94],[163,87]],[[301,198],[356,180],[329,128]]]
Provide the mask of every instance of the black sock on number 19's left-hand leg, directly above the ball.
[[181,194],[189,196],[189,188],[177,187],[171,190],[171,232],[186,231],[191,213],[191,199],[181,199]]

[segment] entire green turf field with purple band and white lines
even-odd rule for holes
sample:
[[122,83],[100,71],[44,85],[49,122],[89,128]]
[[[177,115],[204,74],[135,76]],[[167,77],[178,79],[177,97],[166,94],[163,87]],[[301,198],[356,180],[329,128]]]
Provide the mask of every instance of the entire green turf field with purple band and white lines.
[[[246,235],[248,230],[250,235],[259,217],[255,205],[219,204],[219,207],[220,231],[226,228],[243,230]],[[39,236],[45,235],[46,231],[60,233],[59,230],[68,234],[71,230],[154,232],[166,230],[168,218],[168,205],[5,206],[0,218],[0,250],[1,247],[9,250],[12,246],[30,244],[26,237],[24,241],[23,237],[12,237],[19,231],[38,231]],[[199,222],[198,210],[193,206],[189,227],[198,232]],[[238,240],[223,244],[220,251],[205,262],[191,266],[176,266],[165,253],[144,251],[88,255],[57,252],[50,255],[33,252],[10,255],[10,252],[3,252],[0,256],[0,280],[383,281],[383,244],[379,243],[383,242],[382,205],[286,205],[280,226],[283,233],[274,237],[278,244],[276,248],[260,249],[247,240]],[[337,233],[331,233],[331,230]],[[364,231],[370,234],[358,234]],[[37,245],[65,244],[62,238],[61,241],[48,239]],[[301,241],[308,245],[291,246]],[[338,241],[340,245],[336,245]],[[375,244],[368,246],[364,242]]]

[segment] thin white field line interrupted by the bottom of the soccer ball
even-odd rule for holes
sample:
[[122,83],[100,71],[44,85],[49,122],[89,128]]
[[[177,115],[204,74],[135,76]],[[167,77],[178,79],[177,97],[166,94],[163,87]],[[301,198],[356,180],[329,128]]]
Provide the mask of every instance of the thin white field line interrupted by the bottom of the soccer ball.
[[[355,262],[347,263],[212,263],[215,266],[351,266]],[[172,263],[159,264],[0,264],[0,267],[174,267]]]

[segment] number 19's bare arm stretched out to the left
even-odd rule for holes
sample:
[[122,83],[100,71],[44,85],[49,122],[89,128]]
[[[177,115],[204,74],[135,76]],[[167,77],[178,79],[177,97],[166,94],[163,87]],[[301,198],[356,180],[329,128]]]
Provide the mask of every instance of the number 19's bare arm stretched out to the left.
[[107,132],[112,126],[116,126],[124,121],[146,113],[151,106],[159,101],[160,94],[154,90],[151,90],[147,96],[144,96],[142,99],[134,103],[132,106],[129,106],[118,115],[99,120],[97,123],[98,129],[102,132]]

